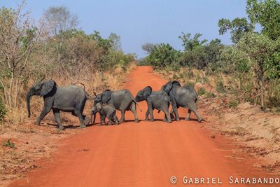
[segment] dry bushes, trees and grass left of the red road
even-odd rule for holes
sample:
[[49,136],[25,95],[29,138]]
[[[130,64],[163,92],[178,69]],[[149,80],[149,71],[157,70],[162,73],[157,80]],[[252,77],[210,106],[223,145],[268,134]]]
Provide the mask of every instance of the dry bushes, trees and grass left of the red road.
[[[36,81],[52,78],[58,85],[83,83],[85,90],[117,88],[130,71],[134,54],[125,54],[120,36],[103,38],[78,29],[78,16],[65,6],[47,8],[38,22],[23,11],[0,8],[0,125],[23,123],[25,95]],[[62,16],[63,15],[63,16]],[[34,116],[42,99],[33,98]],[[0,128],[1,129],[1,128]]]

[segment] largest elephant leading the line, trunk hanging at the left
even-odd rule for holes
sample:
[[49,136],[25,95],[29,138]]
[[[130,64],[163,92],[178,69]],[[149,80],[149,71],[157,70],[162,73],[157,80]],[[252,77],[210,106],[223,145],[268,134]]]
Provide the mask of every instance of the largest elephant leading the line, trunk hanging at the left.
[[34,125],[40,125],[41,120],[51,109],[59,130],[64,130],[59,111],[71,112],[74,116],[78,116],[81,128],[85,127],[85,121],[90,123],[90,118],[83,115],[87,94],[78,85],[57,86],[51,79],[34,83],[26,97],[28,117],[30,117],[30,99],[33,95],[39,95],[44,99],[43,110]]

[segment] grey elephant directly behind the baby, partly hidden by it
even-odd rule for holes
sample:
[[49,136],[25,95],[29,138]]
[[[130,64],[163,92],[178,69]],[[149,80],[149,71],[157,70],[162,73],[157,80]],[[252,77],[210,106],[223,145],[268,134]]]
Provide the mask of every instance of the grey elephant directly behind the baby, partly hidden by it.
[[96,93],[94,92],[94,95],[94,105],[96,105],[97,103],[111,104],[122,113],[120,123],[123,123],[123,121],[125,120],[125,111],[132,111],[134,114],[134,122],[139,122],[136,111],[137,102],[134,100],[134,97],[132,96],[130,90],[105,90],[99,95],[96,95]]

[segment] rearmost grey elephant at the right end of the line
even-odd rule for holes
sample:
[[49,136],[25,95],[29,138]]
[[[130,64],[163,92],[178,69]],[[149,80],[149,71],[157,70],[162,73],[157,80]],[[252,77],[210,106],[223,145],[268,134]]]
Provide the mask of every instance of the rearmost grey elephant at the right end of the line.
[[162,90],[169,95],[172,103],[171,113],[175,113],[176,120],[179,120],[178,109],[180,106],[188,109],[188,115],[185,120],[190,120],[190,113],[193,111],[197,116],[198,122],[202,121],[200,113],[197,111],[196,102],[198,95],[192,86],[185,85],[181,86],[178,81],[169,81],[165,85],[162,85]]

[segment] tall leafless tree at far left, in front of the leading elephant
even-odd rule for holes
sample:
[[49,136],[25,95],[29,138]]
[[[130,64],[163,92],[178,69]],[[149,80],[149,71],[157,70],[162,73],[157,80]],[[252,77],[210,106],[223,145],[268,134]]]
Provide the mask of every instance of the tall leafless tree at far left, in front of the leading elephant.
[[0,83],[8,109],[18,107],[18,93],[27,81],[29,58],[41,36],[29,12],[22,13],[25,1],[16,10],[0,9]]

